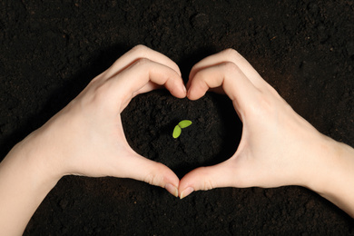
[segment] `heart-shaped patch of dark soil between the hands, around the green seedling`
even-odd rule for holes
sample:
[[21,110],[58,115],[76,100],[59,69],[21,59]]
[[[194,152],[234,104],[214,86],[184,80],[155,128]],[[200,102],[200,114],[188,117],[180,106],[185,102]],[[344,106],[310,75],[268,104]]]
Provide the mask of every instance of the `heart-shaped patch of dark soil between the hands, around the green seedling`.
[[[192,125],[172,137],[182,120]],[[242,123],[231,100],[206,93],[197,101],[178,99],[166,90],[136,96],[122,113],[128,143],[135,152],[162,162],[179,178],[200,166],[226,161],[236,152]]]

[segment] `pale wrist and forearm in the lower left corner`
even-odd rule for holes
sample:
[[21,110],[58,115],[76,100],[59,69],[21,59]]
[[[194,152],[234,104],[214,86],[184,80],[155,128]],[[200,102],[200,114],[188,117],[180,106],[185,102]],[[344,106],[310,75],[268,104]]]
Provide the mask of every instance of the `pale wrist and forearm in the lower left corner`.
[[0,163],[0,235],[22,235],[59,177],[50,172],[42,145],[30,134]]

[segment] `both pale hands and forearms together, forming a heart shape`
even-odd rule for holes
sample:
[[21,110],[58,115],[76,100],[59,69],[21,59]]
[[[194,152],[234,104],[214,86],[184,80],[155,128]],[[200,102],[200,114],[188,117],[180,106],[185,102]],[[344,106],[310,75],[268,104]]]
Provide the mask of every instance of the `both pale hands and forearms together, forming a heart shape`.
[[[229,160],[180,181],[133,151],[120,114],[134,96],[162,86],[178,98],[196,100],[210,89],[230,97],[243,131]],[[0,163],[0,235],[21,235],[46,194],[71,174],[132,178],[181,198],[219,187],[300,185],[354,217],[354,150],[319,133],[232,49],[195,64],[187,90],[177,64],[142,45],[95,77]]]

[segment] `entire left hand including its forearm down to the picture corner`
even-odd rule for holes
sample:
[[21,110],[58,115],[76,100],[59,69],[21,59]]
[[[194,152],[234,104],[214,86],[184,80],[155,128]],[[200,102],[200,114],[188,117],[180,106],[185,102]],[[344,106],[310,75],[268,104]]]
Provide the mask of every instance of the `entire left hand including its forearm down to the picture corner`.
[[132,178],[177,196],[176,174],[134,152],[121,121],[123,109],[135,95],[162,85],[176,97],[186,95],[181,72],[172,60],[136,46],[16,144],[0,162],[0,234],[22,234],[45,195],[66,174]]

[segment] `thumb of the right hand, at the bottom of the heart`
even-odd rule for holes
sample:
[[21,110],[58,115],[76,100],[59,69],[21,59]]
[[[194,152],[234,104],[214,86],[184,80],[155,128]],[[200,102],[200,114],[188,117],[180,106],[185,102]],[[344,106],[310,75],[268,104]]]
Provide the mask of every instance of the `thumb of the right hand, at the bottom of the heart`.
[[221,187],[235,186],[234,168],[231,159],[219,164],[200,167],[187,173],[180,182],[180,198],[184,198],[194,191],[211,190]]

